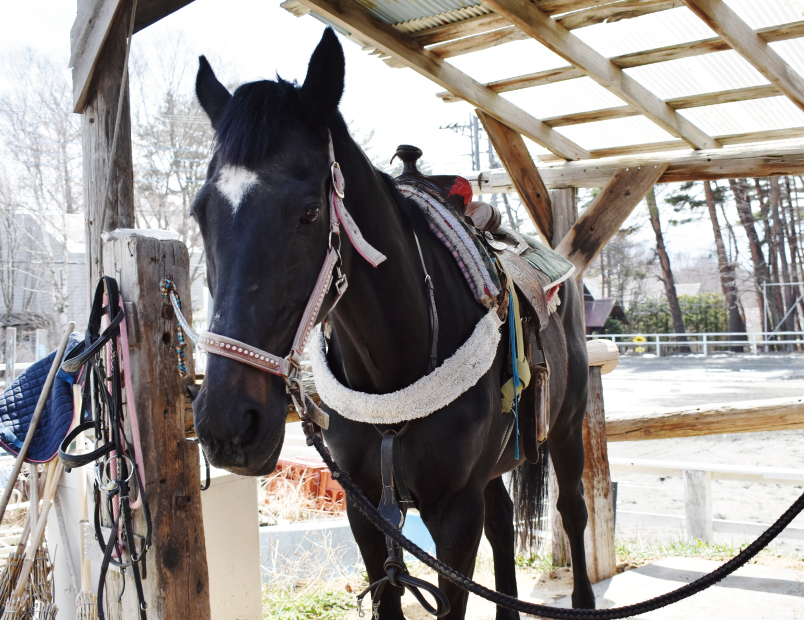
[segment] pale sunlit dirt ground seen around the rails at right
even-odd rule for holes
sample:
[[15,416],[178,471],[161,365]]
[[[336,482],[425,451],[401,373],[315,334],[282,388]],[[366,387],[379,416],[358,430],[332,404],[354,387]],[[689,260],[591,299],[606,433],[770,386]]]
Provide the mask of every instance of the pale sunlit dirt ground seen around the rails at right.
[[[672,410],[693,404],[804,395],[804,356],[623,357],[603,376],[606,417]],[[610,443],[609,456],[762,467],[804,467],[804,431],[711,435]],[[617,508],[634,512],[684,515],[681,478],[616,473]],[[715,480],[712,508],[716,519],[772,523],[804,491],[799,486]],[[804,528],[804,516],[793,521]],[[626,540],[678,537],[680,532],[626,529]],[[716,534],[716,542],[740,545],[744,539]],[[777,545],[804,557],[804,541]]]

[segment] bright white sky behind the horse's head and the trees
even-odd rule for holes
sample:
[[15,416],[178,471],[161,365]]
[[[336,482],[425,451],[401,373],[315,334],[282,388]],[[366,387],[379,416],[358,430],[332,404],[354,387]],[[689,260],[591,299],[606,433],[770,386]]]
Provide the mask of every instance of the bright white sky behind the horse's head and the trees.
[[[74,0],[0,0],[0,54],[29,47],[63,62],[68,71],[75,6]],[[213,68],[218,59],[218,77],[225,83],[273,79],[276,74],[301,82],[323,30],[320,22],[295,17],[282,9],[279,0],[196,0],[138,33],[133,53],[147,57],[157,49],[160,39],[179,39],[191,57],[205,54]],[[346,55],[341,112],[361,135],[373,131],[371,156],[390,160],[398,144],[415,144],[422,148],[435,173],[471,170],[469,138],[440,128],[467,122],[471,106],[442,103],[435,96],[442,90],[436,84],[410,69],[392,69],[351,40],[341,40]],[[512,62],[525,62],[518,58],[514,55]],[[512,73],[525,70],[506,67]],[[191,67],[185,79],[188,92],[192,91],[194,74],[195,67]],[[627,222],[633,223],[642,224],[640,240],[652,244],[644,202]],[[679,260],[711,254],[713,242],[707,226],[696,223],[666,228],[668,248]]]

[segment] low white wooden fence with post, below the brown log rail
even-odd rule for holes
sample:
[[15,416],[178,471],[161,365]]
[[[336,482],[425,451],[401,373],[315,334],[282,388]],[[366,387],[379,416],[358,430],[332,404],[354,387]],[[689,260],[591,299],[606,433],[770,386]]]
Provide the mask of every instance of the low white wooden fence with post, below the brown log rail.
[[[691,463],[685,461],[653,461],[609,457],[612,473],[680,476],[684,478],[685,517],[617,511],[617,520],[641,527],[675,527],[686,532],[687,538],[711,543],[713,533],[758,536],[769,524],[727,521],[712,517],[712,480],[738,480],[804,487],[804,469],[783,467],[751,467]],[[787,527],[781,538],[804,540],[804,528]]]

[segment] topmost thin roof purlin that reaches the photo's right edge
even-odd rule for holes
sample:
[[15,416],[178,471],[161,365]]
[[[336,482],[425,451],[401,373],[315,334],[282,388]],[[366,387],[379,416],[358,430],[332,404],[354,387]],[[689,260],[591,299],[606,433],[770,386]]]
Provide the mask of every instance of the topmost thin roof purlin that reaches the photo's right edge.
[[[766,28],[760,28],[756,33],[767,43],[797,39],[804,36],[804,21],[782,24],[781,26],[768,26]],[[731,47],[729,47],[726,41],[720,37],[712,37],[710,39],[678,43],[666,47],[613,56],[610,60],[621,69],[629,69],[631,67],[642,67],[658,62],[711,54],[713,52],[723,52],[729,49],[731,49]],[[557,67],[555,69],[546,69],[535,73],[506,78],[504,80],[496,80],[489,82],[486,86],[494,92],[504,93],[512,90],[563,82],[565,80],[574,80],[584,75],[585,73],[577,67]],[[450,92],[440,92],[436,96],[440,97],[445,103],[461,101],[460,97],[456,97]]]

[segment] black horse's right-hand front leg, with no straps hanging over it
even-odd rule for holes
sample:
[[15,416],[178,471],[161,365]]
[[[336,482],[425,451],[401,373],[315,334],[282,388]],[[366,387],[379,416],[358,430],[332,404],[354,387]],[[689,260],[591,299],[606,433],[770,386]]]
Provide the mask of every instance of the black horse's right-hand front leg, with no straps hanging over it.
[[[442,499],[434,507],[422,507],[422,520],[436,544],[436,556],[447,566],[471,577],[483,533],[483,493],[467,487]],[[463,620],[469,593],[439,575],[438,587],[446,594],[447,620]]]

